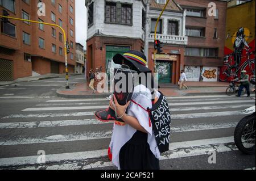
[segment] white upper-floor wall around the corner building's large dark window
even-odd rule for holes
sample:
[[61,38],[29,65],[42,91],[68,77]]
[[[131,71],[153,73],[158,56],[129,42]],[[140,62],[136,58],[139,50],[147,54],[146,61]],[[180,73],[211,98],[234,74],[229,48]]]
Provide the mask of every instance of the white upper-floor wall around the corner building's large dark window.
[[[113,0],[113,2],[120,2]],[[142,30],[142,9],[141,1],[123,0],[122,2],[133,3],[133,25],[109,24],[105,20],[105,0],[94,0],[94,21],[93,26],[87,30],[87,39],[90,39],[98,29],[100,34],[108,36],[123,36],[130,38],[139,38],[144,40],[144,31]]]

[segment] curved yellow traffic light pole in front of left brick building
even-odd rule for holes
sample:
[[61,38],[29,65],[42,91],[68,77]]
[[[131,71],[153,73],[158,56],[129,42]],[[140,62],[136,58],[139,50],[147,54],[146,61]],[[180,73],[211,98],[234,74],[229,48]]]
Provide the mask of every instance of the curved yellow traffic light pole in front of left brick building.
[[28,19],[21,19],[21,18],[14,18],[11,16],[2,16],[0,15],[1,18],[8,18],[8,19],[14,19],[14,20],[19,20],[19,21],[25,21],[25,22],[31,22],[31,23],[38,23],[38,24],[46,24],[49,26],[54,26],[54,27],[58,27],[60,28],[60,30],[63,32],[63,36],[64,36],[64,55],[65,55],[65,72],[66,72],[66,89],[69,89],[68,86],[68,56],[67,56],[67,37],[66,37],[66,33],[63,30],[62,27],[60,27],[57,24],[52,24],[52,23],[44,23],[44,22],[38,22],[38,21],[34,21],[34,20],[28,20]]

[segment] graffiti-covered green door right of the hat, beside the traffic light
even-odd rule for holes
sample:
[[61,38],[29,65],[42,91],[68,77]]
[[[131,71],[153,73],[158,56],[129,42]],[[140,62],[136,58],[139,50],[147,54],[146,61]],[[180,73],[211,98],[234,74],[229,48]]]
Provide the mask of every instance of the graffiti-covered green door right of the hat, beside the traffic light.
[[156,72],[158,73],[159,83],[172,82],[172,62],[171,61],[156,61]]

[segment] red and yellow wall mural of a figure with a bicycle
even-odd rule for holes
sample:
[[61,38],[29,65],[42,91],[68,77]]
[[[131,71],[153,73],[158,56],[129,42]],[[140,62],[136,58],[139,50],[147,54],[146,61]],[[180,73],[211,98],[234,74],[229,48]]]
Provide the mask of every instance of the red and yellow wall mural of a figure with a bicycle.
[[220,81],[229,82],[242,70],[255,75],[255,0],[227,9],[224,54]]

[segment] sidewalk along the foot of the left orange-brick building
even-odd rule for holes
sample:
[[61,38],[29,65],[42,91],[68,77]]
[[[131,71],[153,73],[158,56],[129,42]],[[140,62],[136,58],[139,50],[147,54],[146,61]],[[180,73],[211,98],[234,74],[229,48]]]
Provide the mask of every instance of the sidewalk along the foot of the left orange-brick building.
[[[80,74],[71,74],[71,75],[80,75]],[[15,79],[14,81],[0,81],[0,86],[6,86],[6,85],[12,85],[14,83],[19,82],[31,82],[31,81],[38,81],[43,79],[49,79],[49,78],[59,78],[59,77],[65,77],[65,74],[45,74],[45,75],[38,75],[34,77],[23,77]]]

